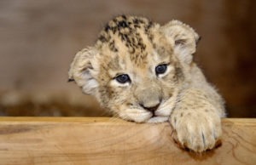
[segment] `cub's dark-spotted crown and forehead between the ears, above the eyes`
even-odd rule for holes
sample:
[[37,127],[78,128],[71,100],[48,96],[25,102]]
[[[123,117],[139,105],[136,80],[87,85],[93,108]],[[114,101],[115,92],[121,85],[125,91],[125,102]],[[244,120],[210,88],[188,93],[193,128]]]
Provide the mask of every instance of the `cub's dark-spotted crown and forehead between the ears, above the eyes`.
[[148,55],[160,48],[159,27],[143,17],[121,15],[110,20],[100,32],[96,48],[104,56],[118,55],[121,59],[131,60],[134,65],[143,65]]

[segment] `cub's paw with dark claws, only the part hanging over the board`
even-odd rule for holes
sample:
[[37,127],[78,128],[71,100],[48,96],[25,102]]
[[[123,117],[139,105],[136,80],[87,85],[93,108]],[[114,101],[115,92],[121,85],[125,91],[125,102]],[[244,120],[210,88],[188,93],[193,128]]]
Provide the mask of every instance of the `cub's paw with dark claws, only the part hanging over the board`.
[[193,113],[183,117],[174,115],[171,123],[175,130],[173,138],[183,148],[202,152],[220,145],[221,120],[217,114],[211,117]]

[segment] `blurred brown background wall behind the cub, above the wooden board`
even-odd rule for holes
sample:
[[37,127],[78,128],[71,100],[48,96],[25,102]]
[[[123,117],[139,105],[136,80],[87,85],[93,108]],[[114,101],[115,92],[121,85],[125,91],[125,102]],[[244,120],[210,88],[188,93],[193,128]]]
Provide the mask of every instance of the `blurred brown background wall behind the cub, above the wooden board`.
[[0,0],[0,116],[108,116],[67,83],[73,55],[117,14],[201,35],[195,60],[227,103],[229,117],[256,117],[254,0]]

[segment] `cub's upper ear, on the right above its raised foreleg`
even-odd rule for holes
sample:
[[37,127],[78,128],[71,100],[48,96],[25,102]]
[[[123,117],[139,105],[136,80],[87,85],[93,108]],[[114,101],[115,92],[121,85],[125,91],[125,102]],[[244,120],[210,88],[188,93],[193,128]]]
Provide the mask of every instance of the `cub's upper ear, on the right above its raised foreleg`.
[[194,29],[179,20],[172,20],[165,26],[161,26],[161,31],[174,46],[174,52],[180,60],[190,63],[192,54],[195,54],[196,44],[200,40]]

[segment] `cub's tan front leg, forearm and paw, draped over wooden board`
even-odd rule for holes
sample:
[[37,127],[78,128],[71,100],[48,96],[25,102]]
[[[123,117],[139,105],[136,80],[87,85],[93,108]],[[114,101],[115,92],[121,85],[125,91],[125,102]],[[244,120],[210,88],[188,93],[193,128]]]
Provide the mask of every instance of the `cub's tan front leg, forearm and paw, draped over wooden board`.
[[219,142],[223,110],[218,108],[222,103],[214,104],[216,101],[200,89],[189,88],[180,94],[169,120],[180,145],[201,152]]

